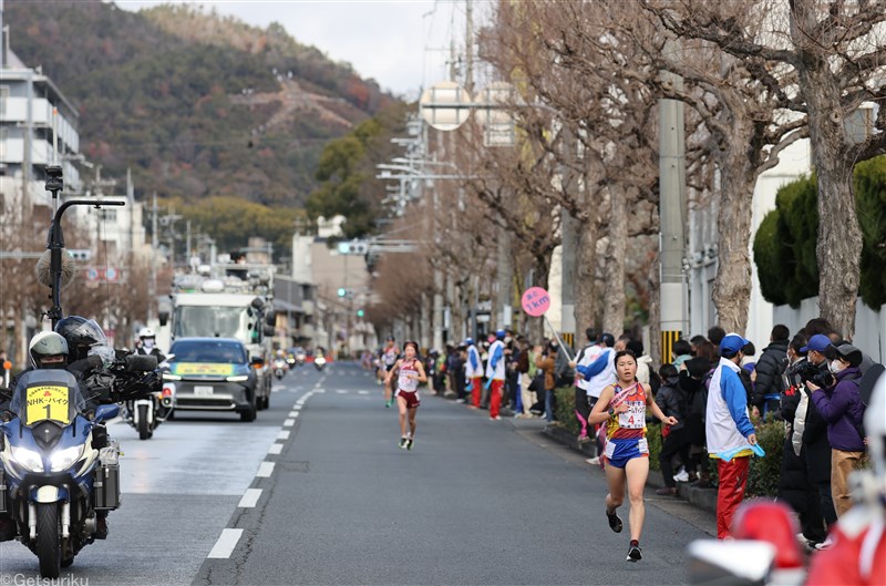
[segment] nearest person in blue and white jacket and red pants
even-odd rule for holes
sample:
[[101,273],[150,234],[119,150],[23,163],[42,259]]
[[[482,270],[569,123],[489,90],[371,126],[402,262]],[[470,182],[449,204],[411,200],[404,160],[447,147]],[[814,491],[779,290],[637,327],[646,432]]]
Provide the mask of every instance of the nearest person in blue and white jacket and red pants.
[[729,333],[720,341],[720,363],[708,388],[704,431],[708,454],[717,460],[720,489],[717,492],[717,537],[730,536],[735,510],[744,500],[756,433],[748,414],[748,393],[739,378],[742,349],[748,340]]

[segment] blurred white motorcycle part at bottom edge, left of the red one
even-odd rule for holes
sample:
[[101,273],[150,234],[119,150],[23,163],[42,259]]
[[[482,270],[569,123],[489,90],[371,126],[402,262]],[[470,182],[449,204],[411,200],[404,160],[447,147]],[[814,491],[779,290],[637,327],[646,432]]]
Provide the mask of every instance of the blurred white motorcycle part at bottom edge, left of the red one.
[[687,547],[689,584],[763,586],[772,572],[775,546],[750,539],[697,539]]

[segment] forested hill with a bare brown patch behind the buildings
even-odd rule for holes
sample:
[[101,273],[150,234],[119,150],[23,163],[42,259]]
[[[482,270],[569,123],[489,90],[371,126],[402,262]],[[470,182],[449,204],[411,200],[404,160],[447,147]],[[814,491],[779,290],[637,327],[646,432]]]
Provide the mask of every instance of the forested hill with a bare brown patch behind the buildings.
[[12,50],[79,107],[81,151],[142,194],[300,206],[323,145],[391,104],[276,24],[161,6],[7,0]]

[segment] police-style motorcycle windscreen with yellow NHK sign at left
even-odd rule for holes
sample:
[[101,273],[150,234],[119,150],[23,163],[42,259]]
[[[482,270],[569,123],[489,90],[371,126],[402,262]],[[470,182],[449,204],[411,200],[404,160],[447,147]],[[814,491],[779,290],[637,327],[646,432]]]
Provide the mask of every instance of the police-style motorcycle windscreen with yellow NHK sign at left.
[[27,426],[42,421],[68,425],[85,408],[73,374],[66,370],[31,370],[19,378],[11,410]]

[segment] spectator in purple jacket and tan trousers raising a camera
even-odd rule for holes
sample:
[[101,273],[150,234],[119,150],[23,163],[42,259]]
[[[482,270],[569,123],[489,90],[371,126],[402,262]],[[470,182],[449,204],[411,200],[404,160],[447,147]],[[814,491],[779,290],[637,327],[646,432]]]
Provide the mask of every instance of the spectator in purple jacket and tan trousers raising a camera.
[[865,439],[862,431],[864,404],[858,394],[862,371],[862,351],[848,343],[826,350],[834,382],[823,389],[812,381],[806,382],[811,400],[827,422],[827,440],[831,442],[831,495],[837,516],[852,507],[848,477],[853,470],[865,462]]

